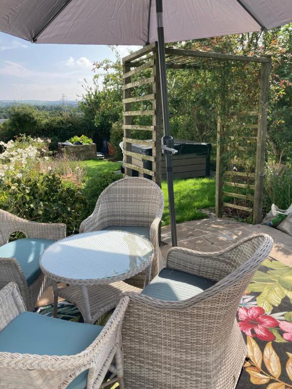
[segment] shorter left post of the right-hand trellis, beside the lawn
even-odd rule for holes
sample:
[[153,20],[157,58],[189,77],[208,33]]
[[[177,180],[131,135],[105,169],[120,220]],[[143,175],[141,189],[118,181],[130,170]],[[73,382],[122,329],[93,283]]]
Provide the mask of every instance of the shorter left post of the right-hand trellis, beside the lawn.
[[222,217],[223,206],[223,174],[224,174],[224,134],[221,118],[217,119],[217,153],[216,153],[216,193],[215,193],[215,214]]

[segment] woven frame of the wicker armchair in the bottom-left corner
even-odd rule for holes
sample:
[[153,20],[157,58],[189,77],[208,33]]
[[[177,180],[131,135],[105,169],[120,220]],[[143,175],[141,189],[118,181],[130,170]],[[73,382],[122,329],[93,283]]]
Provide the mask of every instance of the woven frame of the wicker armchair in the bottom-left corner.
[[[128,297],[124,297],[115,312],[103,327],[100,334],[86,348],[76,355],[31,355],[28,353],[0,352],[0,386],[6,389],[63,389],[81,387],[75,385],[74,379],[82,372],[85,375],[86,389],[98,389],[119,381],[123,389],[123,355],[121,349],[121,324],[128,305]],[[23,300],[16,284],[10,283],[0,291],[0,335],[12,321],[25,313]],[[30,314],[38,319],[38,314]],[[71,323],[75,326],[88,326],[80,323],[65,322],[59,319],[47,320]],[[64,323],[65,322],[65,323]],[[38,323],[36,322],[36,325]],[[97,326],[90,326],[97,327]],[[87,332],[85,328],[85,332]],[[23,328],[22,336],[25,336]],[[47,336],[47,334],[44,334]],[[40,342],[40,339],[37,339]],[[78,342],[79,339],[71,339]],[[3,348],[0,336],[0,349]],[[113,364],[113,360],[115,364]],[[111,382],[102,383],[106,372],[113,372]],[[87,380],[87,383],[86,383]]]

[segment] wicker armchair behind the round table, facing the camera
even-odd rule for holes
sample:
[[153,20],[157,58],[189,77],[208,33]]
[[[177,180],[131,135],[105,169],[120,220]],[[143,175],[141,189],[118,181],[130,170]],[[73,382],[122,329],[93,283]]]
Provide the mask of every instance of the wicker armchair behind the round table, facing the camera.
[[[80,232],[119,227],[145,227],[154,247],[152,275],[164,267],[159,248],[159,224],[164,207],[161,188],[147,178],[128,177],[113,182],[99,196],[93,213],[80,224]],[[138,231],[135,231],[139,234]],[[128,280],[129,281],[129,280]],[[144,275],[129,282],[143,288]]]

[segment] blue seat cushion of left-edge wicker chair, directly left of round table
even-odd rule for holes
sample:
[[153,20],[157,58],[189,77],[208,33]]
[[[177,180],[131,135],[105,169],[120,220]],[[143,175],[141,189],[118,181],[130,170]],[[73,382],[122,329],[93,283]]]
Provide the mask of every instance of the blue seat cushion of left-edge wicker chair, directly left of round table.
[[54,242],[49,239],[18,239],[0,247],[0,258],[16,258],[30,285],[41,274],[40,255]]

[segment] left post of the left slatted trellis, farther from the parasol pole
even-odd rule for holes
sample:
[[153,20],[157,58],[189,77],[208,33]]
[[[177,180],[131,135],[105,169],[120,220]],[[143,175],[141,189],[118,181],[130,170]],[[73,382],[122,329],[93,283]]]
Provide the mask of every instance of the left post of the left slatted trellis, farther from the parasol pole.
[[[127,64],[124,64],[123,65],[123,73],[127,73],[128,71],[131,70],[131,67]],[[129,77],[126,77],[124,79],[124,85],[126,84],[129,84],[131,82],[131,76]],[[131,97],[131,91],[132,91],[132,88],[128,88],[128,89],[125,89],[123,90],[123,99],[127,99],[129,97]],[[130,111],[131,110],[131,103],[124,103],[123,104],[123,111],[126,112],[126,111]],[[132,116],[123,116],[123,124],[124,125],[131,125],[132,124]],[[130,129],[124,129],[124,138],[131,138],[131,133],[132,131]],[[126,151],[132,151],[132,144],[131,143],[128,143],[128,142],[124,142],[124,150]],[[127,163],[127,164],[131,164],[132,163],[132,157],[130,155],[125,155],[124,156],[124,161]],[[125,166],[125,175],[126,176],[132,176],[132,169],[130,169],[129,167]]]

